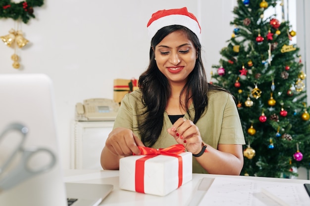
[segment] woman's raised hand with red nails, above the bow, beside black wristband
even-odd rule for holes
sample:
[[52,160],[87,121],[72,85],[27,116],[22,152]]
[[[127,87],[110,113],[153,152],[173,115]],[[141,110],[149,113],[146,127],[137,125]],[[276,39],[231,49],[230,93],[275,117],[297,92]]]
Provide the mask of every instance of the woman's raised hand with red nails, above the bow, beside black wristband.
[[167,131],[178,144],[183,144],[187,151],[198,154],[202,150],[199,129],[192,121],[180,118]]

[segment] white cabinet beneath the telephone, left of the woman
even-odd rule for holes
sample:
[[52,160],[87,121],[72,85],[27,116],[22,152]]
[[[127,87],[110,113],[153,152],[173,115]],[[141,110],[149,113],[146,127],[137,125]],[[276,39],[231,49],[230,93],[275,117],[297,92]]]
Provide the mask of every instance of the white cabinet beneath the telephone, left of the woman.
[[114,121],[77,122],[71,128],[71,169],[102,169],[100,155]]

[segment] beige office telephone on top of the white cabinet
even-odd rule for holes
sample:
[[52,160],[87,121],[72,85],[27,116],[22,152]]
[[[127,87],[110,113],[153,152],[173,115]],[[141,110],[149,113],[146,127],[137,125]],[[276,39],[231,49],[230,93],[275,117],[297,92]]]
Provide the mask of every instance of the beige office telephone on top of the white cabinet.
[[111,99],[86,99],[75,105],[76,121],[114,121],[119,104]]

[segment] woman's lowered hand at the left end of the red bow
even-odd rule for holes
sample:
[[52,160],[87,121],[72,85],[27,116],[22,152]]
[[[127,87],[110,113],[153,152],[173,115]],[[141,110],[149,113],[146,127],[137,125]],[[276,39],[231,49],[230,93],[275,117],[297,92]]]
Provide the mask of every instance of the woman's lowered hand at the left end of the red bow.
[[144,144],[132,130],[122,127],[113,129],[105,141],[105,147],[117,156],[140,155],[138,146]]

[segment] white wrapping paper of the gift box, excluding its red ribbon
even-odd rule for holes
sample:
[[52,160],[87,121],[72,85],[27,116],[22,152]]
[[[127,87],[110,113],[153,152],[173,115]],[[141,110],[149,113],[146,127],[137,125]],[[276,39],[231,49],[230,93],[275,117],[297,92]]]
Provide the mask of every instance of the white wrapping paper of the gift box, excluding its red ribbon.
[[[192,180],[192,153],[182,152],[182,184]],[[133,155],[119,161],[119,187],[136,191],[136,161],[146,155]],[[144,162],[144,193],[165,196],[178,188],[179,160],[177,157],[157,155]],[[141,183],[140,183],[141,184]],[[138,191],[139,192],[139,191]]]

